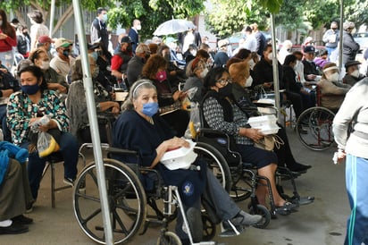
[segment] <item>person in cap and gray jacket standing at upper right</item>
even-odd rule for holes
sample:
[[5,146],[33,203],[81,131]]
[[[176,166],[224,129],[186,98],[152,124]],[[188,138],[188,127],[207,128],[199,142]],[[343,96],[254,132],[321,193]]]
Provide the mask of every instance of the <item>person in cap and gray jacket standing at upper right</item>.
[[344,22],[343,28],[342,63],[347,63],[355,61],[355,55],[358,53],[360,46],[351,35],[351,32],[355,29],[355,23],[351,21]]

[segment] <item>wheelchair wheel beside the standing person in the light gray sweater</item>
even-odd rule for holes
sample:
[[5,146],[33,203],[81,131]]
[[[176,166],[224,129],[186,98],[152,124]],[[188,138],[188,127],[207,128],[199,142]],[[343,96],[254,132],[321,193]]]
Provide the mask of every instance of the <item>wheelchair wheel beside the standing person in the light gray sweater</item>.
[[303,112],[297,119],[297,136],[306,148],[324,150],[334,142],[332,121],[335,114],[316,106]]

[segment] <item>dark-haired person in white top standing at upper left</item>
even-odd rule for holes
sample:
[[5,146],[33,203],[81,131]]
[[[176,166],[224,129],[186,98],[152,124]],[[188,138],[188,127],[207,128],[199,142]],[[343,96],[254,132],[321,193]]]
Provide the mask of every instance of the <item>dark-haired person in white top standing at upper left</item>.
[[37,48],[36,43],[38,41],[38,38],[43,35],[48,36],[49,30],[46,25],[43,24],[44,19],[40,11],[34,10],[28,13],[28,17],[30,23],[32,24],[30,26],[30,52],[32,52],[33,49]]

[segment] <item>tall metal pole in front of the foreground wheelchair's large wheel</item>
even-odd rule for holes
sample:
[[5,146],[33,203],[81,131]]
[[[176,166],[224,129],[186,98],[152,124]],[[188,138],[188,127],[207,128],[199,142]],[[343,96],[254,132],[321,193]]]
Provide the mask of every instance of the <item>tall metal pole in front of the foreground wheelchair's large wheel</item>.
[[98,123],[96,115],[95,97],[93,94],[93,85],[91,71],[89,69],[88,52],[87,52],[87,41],[84,30],[84,24],[82,20],[82,13],[79,6],[78,0],[73,0],[75,21],[77,23],[78,39],[79,39],[79,50],[81,54],[82,69],[84,73],[83,85],[86,90],[88,120],[91,131],[91,138],[93,144],[93,153],[96,161],[96,172],[98,190],[101,198],[102,216],[104,220],[104,231],[105,231],[105,242],[106,244],[113,244],[113,231],[110,219],[110,210],[107,201],[107,191],[105,184],[105,170],[104,162],[101,151],[101,140],[98,132]]

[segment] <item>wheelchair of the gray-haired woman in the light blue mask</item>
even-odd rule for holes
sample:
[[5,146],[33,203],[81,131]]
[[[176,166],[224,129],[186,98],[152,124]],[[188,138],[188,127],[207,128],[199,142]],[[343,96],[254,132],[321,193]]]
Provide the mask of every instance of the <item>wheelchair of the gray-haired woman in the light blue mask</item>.
[[[105,150],[108,157],[116,155],[138,157],[137,152],[126,149],[106,147]],[[221,153],[212,146],[201,142],[197,143],[195,152],[198,157],[206,161],[208,169],[219,179],[222,187],[229,191],[231,187],[230,170]],[[112,158],[104,158],[104,167],[114,244],[122,244],[132,240],[139,231],[141,231],[140,235],[144,234],[150,224],[159,224],[163,227],[157,244],[181,244],[179,237],[174,232],[168,231],[168,224],[175,219],[178,212],[178,208],[175,207],[179,207],[184,225],[187,227],[187,231],[190,231],[184,210],[180,208],[182,204],[177,187],[164,186],[159,173],[138,164],[121,163]],[[150,190],[146,190],[145,184],[142,182],[144,180],[142,175],[147,174],[156,176],[153,178],[155,187]],[[159,199],[163,199],[163,211],[157,205]],[[73,209],[81,230],[91,240],[105,244],[96,163],[94,162],[81,171],[75,182]],[[154,214],[149,214],[148,209],[153,209]],[[210,240],[216,233],[216,224],[205,211],[202,211],[202,221],[205,241],[201,241],[200,244],[215,244]],[[241,232],[238,227],[232,228],[233,231],[223,231],[222,233],[233,235]],[[188,232],[188,237],[191,244],[196,244],[193,243],[191,232]]]

